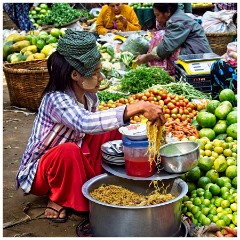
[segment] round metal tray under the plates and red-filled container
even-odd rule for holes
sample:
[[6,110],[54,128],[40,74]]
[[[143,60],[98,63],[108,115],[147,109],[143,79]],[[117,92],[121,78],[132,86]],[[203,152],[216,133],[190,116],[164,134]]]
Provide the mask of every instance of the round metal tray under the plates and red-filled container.
[[127,179],[133,179],[133,180],[162,180],[162,179],[170,179],[170,178],[178,178],[181,176],[179,173],[167,173],[163,169],[160,170],[159,173],[155,173],[153,176],[148,177],[148,178],[143,178],[143,177],[133,177],[133,176],[128,176],[126,174],[125,166],[117,166],[117,165],[110,165],[107,163],[102,162],[102,167],[109,173],[122,177],[122,178],[127,178]]

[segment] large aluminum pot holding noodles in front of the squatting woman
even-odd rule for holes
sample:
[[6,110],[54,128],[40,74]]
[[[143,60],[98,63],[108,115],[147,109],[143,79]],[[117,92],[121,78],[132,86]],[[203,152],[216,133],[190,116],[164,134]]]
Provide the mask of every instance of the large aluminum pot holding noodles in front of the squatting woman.
[[188,191],[187,184],[181,179],[161,181],[168,186],[167,193],[176,198],[151,206],[116,206],[96,201],[90,196],[102,184],[115,184],[129,190],[146,194],[154,188],[151,181],[135,181],[120,178],[108,173],[87,181],[82,188],[90,200],[90,224],[95,237],[175,237],[181,228],[181,203]]

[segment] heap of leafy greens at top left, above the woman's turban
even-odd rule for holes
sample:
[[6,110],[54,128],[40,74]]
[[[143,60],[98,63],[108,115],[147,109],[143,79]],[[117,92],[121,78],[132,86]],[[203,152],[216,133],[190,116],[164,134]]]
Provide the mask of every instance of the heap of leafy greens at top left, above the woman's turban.
[[92,18],[92,15],[85,9],[74,9],[68,3],[54,3],[52,11],[42,19],[44,25],[54,24],[61,27],[77,18]]

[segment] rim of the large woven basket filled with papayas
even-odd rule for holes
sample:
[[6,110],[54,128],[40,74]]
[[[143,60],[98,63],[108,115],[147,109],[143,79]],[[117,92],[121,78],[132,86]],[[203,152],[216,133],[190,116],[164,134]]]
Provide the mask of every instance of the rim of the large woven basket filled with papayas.
[[[29,65],[32,64],[32,63],[37,63],[37,62],[41,63],[41,62],[46,62],[46,61],[47,61],[46,59],[32,60],[32,61],[29,61]],[[6,71],[8,73],[18,73],[18,74],[28,74],[28,73],[34,74],[34,73],[48,72],[47,67],[42,67],[42,66],[27,67],[26,63],[27,63],[26,61],[18,62],[18,63],[4,63],[3,64],[3,71],[4,72]],[[14,68],[12,68],[13,66],[14,66]],[[19,66],[19,68],[16,68],[18,66]],[[24,67],[21,68],[21,66],[24,66]]]

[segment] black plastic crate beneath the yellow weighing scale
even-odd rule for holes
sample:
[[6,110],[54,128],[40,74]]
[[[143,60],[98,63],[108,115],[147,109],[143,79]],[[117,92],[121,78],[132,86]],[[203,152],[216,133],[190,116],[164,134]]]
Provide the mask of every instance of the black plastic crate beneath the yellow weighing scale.
[[210,93],[212,91],[212,82],[210,74],[187,74],[185,70],[176,62],[175,66],[175,79],[176,81],[185,81],[194,86],[196,89]]

